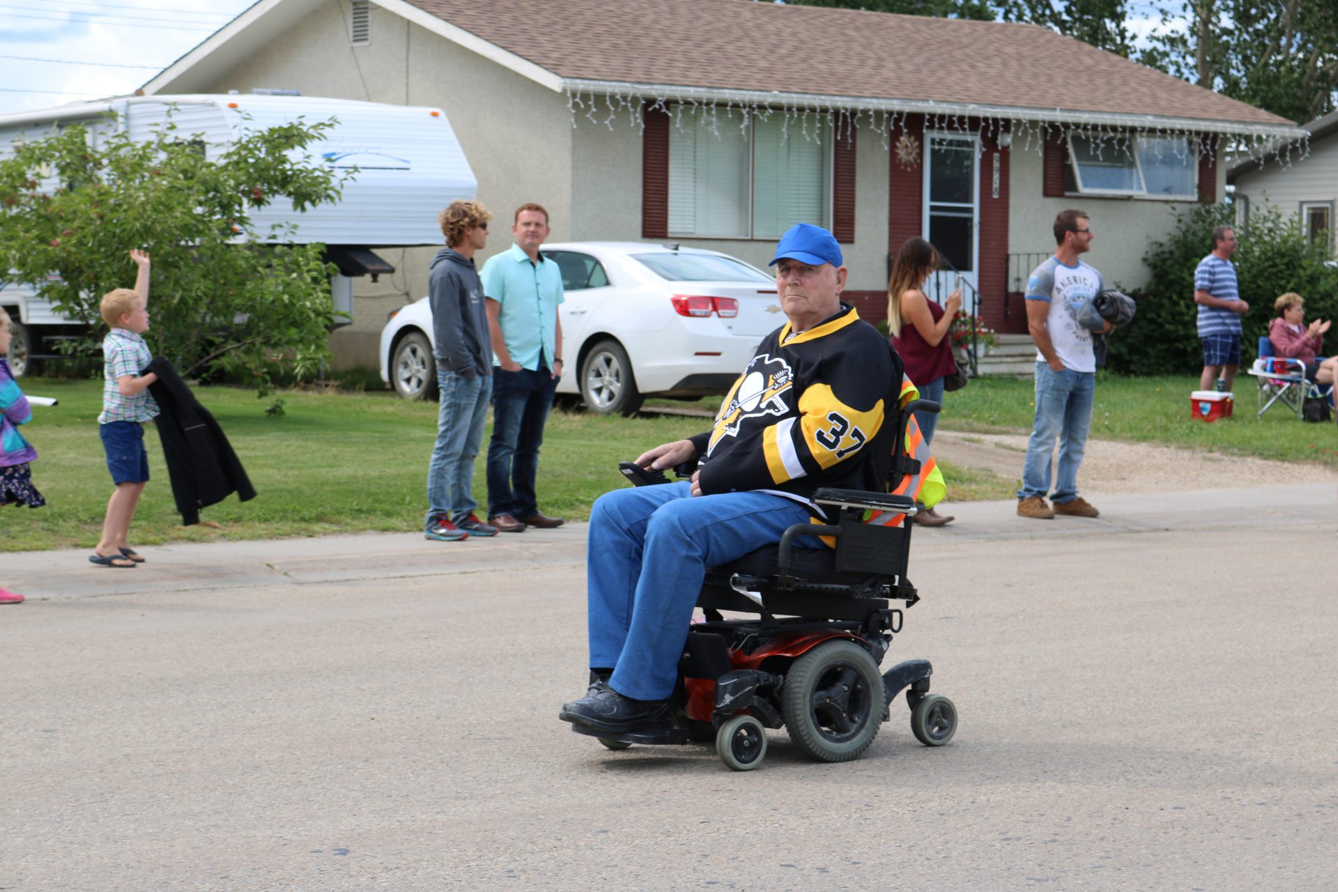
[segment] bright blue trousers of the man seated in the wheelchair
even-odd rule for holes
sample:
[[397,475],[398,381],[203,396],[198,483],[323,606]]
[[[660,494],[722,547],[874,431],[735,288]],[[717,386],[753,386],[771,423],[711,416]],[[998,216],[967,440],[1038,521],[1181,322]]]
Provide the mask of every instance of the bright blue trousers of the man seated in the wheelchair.
[[[693,497],[686,481],[599,496],[586,564],[590,666],[611,667],[609,683],[633,699],[669,697],[706,567],[780,542],[808,518],[808,508],[784,496]],[[801,544],[822,547],[811,536]]]

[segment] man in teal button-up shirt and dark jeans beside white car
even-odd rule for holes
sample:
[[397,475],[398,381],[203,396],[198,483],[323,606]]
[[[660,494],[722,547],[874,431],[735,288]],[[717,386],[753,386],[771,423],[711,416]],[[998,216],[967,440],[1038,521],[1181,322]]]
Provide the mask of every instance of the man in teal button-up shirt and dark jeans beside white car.
[[549,237],[549,211],[515,211],[510,250],[483,265],[492,332],[492,441],[488,443],[488,523],[502,532],[561,527],[539,511],[535,479],[543,425],[563,370],[563,301],[558,265],[539,254]]

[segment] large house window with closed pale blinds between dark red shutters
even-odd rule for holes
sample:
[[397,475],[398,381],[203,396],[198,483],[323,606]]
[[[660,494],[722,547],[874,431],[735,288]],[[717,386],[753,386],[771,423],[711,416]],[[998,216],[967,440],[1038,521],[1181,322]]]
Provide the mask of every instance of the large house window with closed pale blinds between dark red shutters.
[[[831,226],[831,127],[741,110],[684,110],[669,124],[669,234],[777,238]],[[745,126],[747,124],[747,126]]]

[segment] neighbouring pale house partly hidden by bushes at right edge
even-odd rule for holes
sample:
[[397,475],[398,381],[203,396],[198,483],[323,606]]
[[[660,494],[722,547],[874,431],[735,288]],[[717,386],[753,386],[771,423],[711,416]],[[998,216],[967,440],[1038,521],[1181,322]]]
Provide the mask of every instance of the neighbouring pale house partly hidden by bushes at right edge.
[[1338,211],[1338,111],[1303,124],[1310,131],[1310,151],[1280,158],[1244,158],[1227,171],[1235,186],[1236,222],[1244,225],[1250,213],[1275,205],[1295,214],[1305,233],[1323,242],[1330,254],[1338,251],[1334,214]]

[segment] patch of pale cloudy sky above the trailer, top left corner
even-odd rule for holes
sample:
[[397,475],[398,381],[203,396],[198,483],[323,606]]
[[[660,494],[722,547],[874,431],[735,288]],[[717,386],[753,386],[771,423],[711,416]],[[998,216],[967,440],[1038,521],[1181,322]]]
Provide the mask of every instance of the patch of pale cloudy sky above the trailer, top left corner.
[[253,1],[0,0],[0,114],[134,92]]

